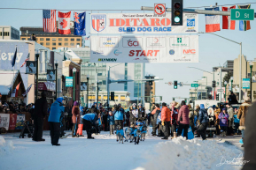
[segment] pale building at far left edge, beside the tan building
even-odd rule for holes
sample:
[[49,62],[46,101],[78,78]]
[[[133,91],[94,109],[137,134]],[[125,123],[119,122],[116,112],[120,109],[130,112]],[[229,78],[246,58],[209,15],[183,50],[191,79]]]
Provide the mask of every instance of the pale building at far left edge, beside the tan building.
[[12,26],[0,26],[0,40],[19,40],[19,30]]

